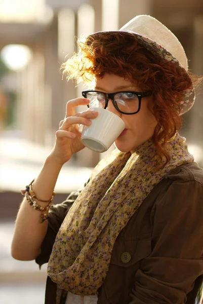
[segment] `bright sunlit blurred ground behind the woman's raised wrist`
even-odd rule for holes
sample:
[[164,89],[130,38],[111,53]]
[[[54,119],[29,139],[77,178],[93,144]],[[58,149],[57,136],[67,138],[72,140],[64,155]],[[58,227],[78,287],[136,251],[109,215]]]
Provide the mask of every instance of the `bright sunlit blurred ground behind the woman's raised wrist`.
[[[42,168],[51,148],[33,144],[18,134],[0,134],[0,191],[19,192]],[[73,160],[65,164],[55,187],[56,193],[70,193],[83,187],[92,169],[77,167]]]

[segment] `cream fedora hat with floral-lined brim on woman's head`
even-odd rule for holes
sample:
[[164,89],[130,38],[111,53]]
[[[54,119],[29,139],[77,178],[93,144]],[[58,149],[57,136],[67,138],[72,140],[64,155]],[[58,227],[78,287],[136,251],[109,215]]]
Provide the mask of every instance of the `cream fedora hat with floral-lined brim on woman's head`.
[[[119,32],[130,32],[137,36],[138,41],[156,56],[179,65],[188,71],[185,51],[177,37],[164,24],[149,15],[138,15],[119,29]],[[104,31],[103,31],[104,32]],[[105,31],[115,32],[115,31]],[[97,32],[99,33],[99,32]],[[93,33],[90,36],[94,36]],[[188,78],[189,74],[188,74]],[[190,79],[191,80],[191,79]],[[180,102],[180,115],[187,112],[195,100],[194,86],[183,93]]]

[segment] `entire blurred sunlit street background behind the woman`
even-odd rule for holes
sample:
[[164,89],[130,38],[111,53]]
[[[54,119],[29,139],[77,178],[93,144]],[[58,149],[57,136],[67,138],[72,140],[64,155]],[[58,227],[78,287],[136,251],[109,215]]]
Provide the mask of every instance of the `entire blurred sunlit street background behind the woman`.
[[[202,0],[0,0],[0,304],[44,303],[46,265],[39,271],[34,261],[16,261],[10,247],[20,189],[49,154],[66,102],[83,89],[62,80],[60,65],[76,50],[75,37],[119,29],[140,14],[169,27],[189,68],[203,74]],[[181,135],[200,166],[202,131],[199,90]],[[82,187],[103,155],[87,148],[74,155],[57,181],[55,203]]]

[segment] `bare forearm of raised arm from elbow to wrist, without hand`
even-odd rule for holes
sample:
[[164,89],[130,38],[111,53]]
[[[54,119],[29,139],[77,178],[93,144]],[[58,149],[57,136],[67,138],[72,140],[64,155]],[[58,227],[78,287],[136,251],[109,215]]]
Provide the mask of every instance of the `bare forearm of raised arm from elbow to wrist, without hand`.
[[[49,156],[33,182],[32,189],[36,197],[49,200],[61,170],[62,164]],[[48,203],[35,200],[42,207]],[[12,241],[12,256],[19,260],[35,259],[40,253],[40,246],[47,232],[48,221],[40,223],[41,212],[33,209],[26,198],[23,199],[15,224]]]

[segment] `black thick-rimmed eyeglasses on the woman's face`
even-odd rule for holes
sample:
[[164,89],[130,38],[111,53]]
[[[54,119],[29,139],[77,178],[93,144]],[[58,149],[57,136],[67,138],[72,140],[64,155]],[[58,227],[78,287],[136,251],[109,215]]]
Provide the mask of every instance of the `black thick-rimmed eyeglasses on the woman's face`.
[[100,91],[83,91],[83,97],[88,98],[88,107],[100,107],[106,109],[111,99],[114,107],[120,113],[131,115],[139,112],[141,99],[150,96],[150,92],[120,91],[115,93],[104,93]]

